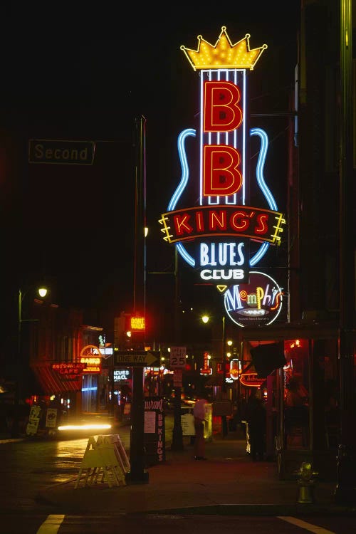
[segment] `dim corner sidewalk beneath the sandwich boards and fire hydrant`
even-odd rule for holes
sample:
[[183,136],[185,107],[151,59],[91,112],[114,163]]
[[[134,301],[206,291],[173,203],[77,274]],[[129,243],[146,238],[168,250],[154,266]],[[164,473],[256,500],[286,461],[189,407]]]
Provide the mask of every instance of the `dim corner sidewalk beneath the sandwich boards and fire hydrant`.
[[75,489],[76,476],[46,488],[41,502],[67,513],[196,513],[221,515],[305,515],[356,513],[335,504],[333,483],[315,483],[314,503],[298,503],[295,481],[278,479],[276,462],[251,461],[239,432],[206,442],[206,461],[194,461],[193,447],[166,447],[166,461],[147,469],[148,482],[109,488],[107,483]]

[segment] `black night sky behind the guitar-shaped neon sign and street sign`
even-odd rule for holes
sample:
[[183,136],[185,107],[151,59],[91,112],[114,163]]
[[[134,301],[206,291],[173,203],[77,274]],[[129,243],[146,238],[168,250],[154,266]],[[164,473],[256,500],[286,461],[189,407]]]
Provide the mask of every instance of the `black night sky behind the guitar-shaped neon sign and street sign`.
[[[44,11],[36,4],[1,15],[1,224],[9,295],[16,298],[20,284],[45,273],[60,304],[130,308],[132,130],[141,115],[147,121],[147,270],[172,271],[173,249],[162,241],[157,220],[179,183],[177,135],[194,125],[198,98],[197,73],[179,47],[197,48],[199,34],[215,43],[223,25],[233,43],[251,33],[251,48],[268,44],[251,75],[251,111],[286,111],[298,4],[231,2],[221,9],[216,2],[194,8],[182,2],[162,11],[153,2],[144,11],[125,6],[125,14],[105,5],[46,4]],[[257,125],[270,130],[281,157],[286,120],[263,122]],[[28,164],[31,138],[95,141],[95,162]],[[286,167],[276,162],[271,171],[283,199]],[[172,285],[170,276],[148,276]]]

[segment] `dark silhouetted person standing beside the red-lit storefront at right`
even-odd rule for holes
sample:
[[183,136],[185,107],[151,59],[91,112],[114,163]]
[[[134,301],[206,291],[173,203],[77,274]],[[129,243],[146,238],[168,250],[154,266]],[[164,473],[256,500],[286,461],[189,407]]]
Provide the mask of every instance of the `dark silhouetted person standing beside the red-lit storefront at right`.
[[263,460],[265,452],[266,410],[263,402],[256,395],[251,395],[246,404],[246,421],[248,423],[248,437],[251,447],[251,459]]

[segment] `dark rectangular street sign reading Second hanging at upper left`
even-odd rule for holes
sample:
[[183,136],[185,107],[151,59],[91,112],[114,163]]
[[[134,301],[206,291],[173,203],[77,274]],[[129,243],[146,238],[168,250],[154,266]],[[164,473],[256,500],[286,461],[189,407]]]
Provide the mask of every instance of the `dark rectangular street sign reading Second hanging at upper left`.
[[30,139],[28,142],[29,163],[92,165],[94,154],[93,141]]

